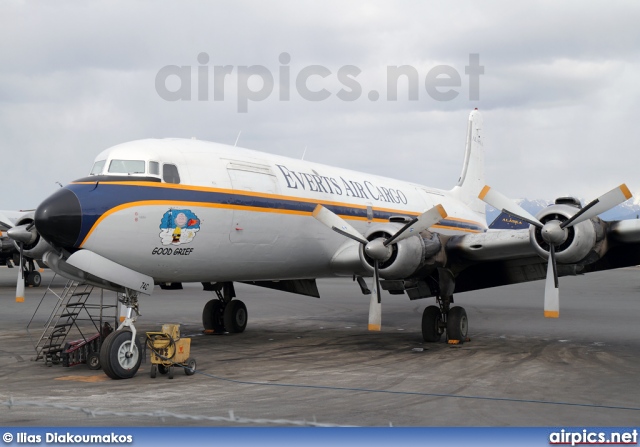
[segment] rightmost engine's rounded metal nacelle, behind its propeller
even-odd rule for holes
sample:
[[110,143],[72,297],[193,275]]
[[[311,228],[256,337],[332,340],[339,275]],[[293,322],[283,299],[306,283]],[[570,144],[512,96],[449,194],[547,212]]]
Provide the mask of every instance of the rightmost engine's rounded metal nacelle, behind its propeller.
[[[540,211],[536,218],[543,224],[556,220],[560,223],[569,220],[580,208],[573,205],[555,204]],[[588,219],[564,229],[565,240],[557,245],[556,260],[561,264],[577,264],[592,262],[593,256],[600,257],[596,249],[604,238],[604,228],[599,219]],[[529,239],[536,252],[543,258],[549,257],[549,244],[542,238],[541,229],[531,225]]]

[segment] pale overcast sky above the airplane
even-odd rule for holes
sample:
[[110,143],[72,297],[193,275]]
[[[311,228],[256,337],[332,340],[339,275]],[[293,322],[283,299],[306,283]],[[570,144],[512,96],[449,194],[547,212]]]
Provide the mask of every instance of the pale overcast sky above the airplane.
[[[306,160],[449,189],[475,107],[484,117],[487,183],[505,194],[592,199],[626,182],[640,195],[639,22],[636,0],[5,0],[0,209],[36,207],[56,182],[87,175],[94,157],[118,143],[233,144],[239,132],[239,146],[294,158],[306,147]],[[198,62],[201,53],[208,63]],[[290,61],[282,63],[282,53]],[[484,67],[478,100],[465,74],[472,54]],[[191,100],[163,99],[156,89],[171,65],[190,70]],[[313,65],[329,73],[307,83],[329,92],[324,100],[296,88]],[[406,79],[396,101],[387,96],[387,67],[402,65],[418,73],[417,100]],[[433,98],[425,87],[443,65],[459,74],[459,85],[439,89],[455,91],[454,99]],[[232,66],[224,100],[214,98],[214,66]],[[264,67],[276,85],[241,112],[243,85],[259,91],[266,76],[246,80],[239,67],[251,66]],[[347,79],[361,88],[351,101],[338,96],[357,96],[338,76],[345,66],[359,71]],[[207,100],[198,100],[199,67],[208,72],[200,76]],[[185,91],[176,75],[165,86]]]

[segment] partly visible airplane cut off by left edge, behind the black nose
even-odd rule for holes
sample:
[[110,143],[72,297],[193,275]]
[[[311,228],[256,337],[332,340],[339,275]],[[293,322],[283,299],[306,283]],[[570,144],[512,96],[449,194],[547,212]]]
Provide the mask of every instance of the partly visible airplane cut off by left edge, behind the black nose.
[[[11,240],[9,232],[14,226],[29,225],[33,222],[33,211],[0,211],[0,265],[13,267],[13,260],[18,256],[21,259],[19,265],[18,281],[24,286],[38,287],[42,282],[39,266],[36,267],[38,254],[33,251],[37,240],[26,241],[25,244]],[[37,238],[37,234],[33,234]],[[22,247],[22,248],[21,248]],[[19,256],[22,250],[22,256]],[[24,292],[16,296],[18,301],[24,301]]]

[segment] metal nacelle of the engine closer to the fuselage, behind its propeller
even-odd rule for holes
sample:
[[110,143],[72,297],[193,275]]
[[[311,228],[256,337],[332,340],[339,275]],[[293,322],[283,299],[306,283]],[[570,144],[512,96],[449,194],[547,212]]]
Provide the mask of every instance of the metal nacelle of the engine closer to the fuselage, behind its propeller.
[[[403,225],[400,223],[385,223],[375,225],[367,231],[365,237],[372,241],[377,238],[387,239],[397,233]],[[433,234],[431,238],[421,234],[391,244],[391,257],[380,262],[378,271],[384,279],[405,279],[416,273],[429,258],[435,256],[442,248],[440,239]],[[374,261],[360,248],[360,260],[369,271],[373,272]]]

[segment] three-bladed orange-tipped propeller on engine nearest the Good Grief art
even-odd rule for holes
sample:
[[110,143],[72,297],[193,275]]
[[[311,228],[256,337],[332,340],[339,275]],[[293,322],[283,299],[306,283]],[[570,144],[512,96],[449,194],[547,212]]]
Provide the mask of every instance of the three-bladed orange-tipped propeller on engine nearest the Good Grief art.
[[384,239],[377,238],[372,241],[367,240],[362,233],[349,225],[337,214],[329,211],[322,205],[316,206],[313,210],[313,217],[328,228],[338,234],[360,243],[364,247],[367,256],[373,259],[373,288],[369,303],[369,330],[379,331],[382,328],[382,299],[380,297],[380,263],[391,257],[392,250],[389,245],[400,242],[408,237],[416,235],[421,231],[435,225],[440,220],[447,217],[447,213],[442,205],[436,205],[425,211],[418,217],[411,219],[400,228],[395,234]]

